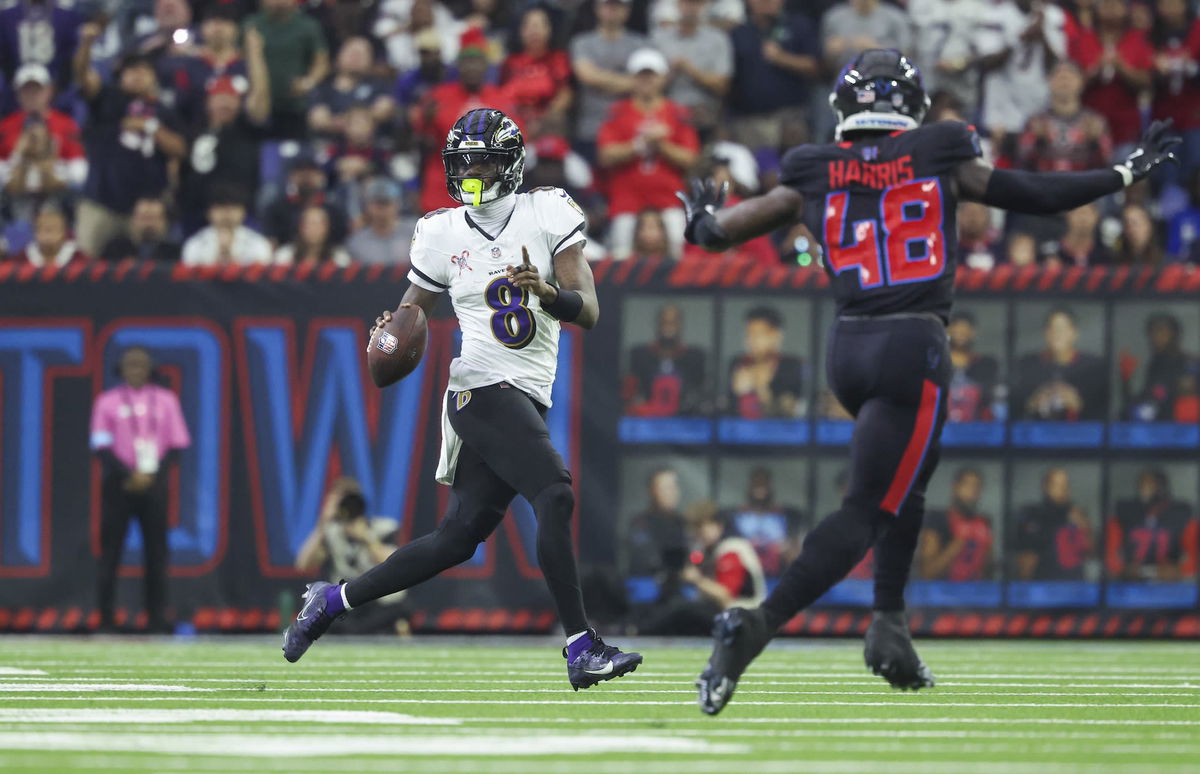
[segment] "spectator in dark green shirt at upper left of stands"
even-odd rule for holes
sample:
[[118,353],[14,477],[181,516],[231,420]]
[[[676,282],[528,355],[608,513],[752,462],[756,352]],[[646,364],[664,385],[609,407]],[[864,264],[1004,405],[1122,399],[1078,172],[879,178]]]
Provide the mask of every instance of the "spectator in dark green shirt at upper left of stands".
[[307,126],[308,96],[329,73],[320,25],[300,10],[296,0],[263,0],[262,11],[245,22],[245,29],[251,28],[263,36],[270,73],[270,134],[300,138]]

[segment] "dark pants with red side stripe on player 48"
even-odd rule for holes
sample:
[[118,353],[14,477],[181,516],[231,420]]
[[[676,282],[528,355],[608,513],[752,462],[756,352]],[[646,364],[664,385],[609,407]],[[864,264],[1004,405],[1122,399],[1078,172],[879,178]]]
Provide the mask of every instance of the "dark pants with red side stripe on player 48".
[[800,556],[763,602],[776,625],[811,605],[875,546],[875,606],[902,610],[904,588],[937,467],[950,354],[929,314],[841,318],[826,368],[854,416],[841,509],[809,533]]

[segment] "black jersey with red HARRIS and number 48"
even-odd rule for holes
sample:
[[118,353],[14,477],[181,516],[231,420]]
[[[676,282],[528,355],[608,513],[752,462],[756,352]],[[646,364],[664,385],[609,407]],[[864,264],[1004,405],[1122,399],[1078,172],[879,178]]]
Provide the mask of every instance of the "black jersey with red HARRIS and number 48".
[[839,314],[950,314],[958,252],[954,169],[979,137],[940,121],[853,143],[800,145],[782,185],[804,194]]

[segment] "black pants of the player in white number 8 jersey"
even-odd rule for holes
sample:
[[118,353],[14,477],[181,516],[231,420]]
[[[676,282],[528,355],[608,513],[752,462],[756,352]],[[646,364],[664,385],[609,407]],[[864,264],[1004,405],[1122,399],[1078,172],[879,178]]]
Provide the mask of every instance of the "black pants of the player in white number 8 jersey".
[[432,533],[347,583],[347,601],[358,607],[466,562],[522,494],[538,516],[538,564],[563,629],[583,631],[588,624],[571,545],[575,491],[550,442],[546,407],[506,383],[450,392],[446,400],[450,424],[462,438],[446,514]]

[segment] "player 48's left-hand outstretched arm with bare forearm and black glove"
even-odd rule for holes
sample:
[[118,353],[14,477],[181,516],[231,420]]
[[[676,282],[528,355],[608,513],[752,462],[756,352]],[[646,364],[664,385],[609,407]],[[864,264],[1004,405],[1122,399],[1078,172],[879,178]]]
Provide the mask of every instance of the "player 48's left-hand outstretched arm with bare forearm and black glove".
[[720,190],[712,180],[695,181],[691,193],[676,193],[688,216],[686,240],[704,250],[720,252],[733,245],[769,234],[800,220],[804,197],[787,186],[775,186],[762,196],[751,197],[728,208],[726,186]]

